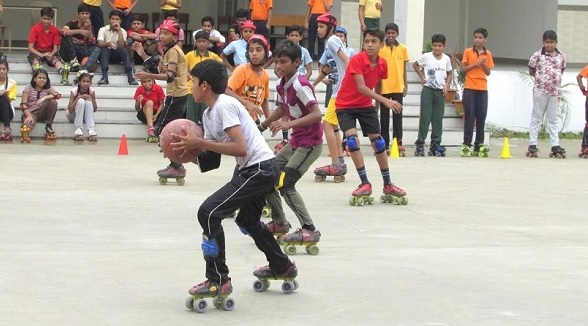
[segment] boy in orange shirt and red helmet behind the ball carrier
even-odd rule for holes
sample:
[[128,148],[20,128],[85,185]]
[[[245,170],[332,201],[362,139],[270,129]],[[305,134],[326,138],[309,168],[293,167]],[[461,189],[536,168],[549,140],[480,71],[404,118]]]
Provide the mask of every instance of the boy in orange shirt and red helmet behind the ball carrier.
[[233,70],[226,94],[233,96],[249,112],[253,121],[259,124],[259,116],[269,117],[269,74],[263,65],[269,57],[269,43],[258,34],[247,41],[249,63],[239,65]]

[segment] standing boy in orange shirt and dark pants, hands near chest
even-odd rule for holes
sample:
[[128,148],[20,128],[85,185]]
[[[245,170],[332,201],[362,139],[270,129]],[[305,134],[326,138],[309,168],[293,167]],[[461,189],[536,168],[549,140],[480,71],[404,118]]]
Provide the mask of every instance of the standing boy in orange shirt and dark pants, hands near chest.
[[[465,49],[461,71],[466,74],[463,90],[464,128],[461,156],[487,157],[489,149],[484,146],[484,125],[488,113],[488,80],[490,69],[494,68],[492,53],[485,47],[488,31],[478,28],[474,31],[474,46]],[[476,140],[472,150],[472,136],[476,123]]]

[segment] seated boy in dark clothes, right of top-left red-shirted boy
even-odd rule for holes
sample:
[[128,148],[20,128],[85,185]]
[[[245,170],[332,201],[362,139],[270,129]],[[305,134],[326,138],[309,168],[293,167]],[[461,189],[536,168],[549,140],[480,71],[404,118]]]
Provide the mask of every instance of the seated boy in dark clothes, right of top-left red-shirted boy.
[[100,48],[96,46],[90,22],[90,9],[87,4],[78,5],[78,18],[65,24],[60,34],[61,59],[68,64],[71,60],[77,59],[78,62],[83,63],[81,70],[94,71],[94,65],[100,57]]

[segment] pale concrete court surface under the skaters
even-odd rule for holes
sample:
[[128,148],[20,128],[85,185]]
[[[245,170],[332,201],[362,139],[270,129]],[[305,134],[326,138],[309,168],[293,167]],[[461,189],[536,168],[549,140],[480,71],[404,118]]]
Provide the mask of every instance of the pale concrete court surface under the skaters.
[[[412,156],[390,160],[407,206],[351,207],[359,183],[298,189],[323,237],[318,256],[294,256],[300,288],[251,285],[266,261],[232,219],[224,221],[235,310],[184,307],[204,280],[195,214],[228,180],[234,160],[186,185],[160,186],[154,144],[118,140],[46,146],[0,143],[0,325],[586,325],[588,160],[564,141],[565,160]],[[363,147],[376,200],[381,178]],[[326,150],[317,164],[327,163]],[[349,161],[349,163],[351,163]],[[298,226],[289,213],[290,221]]]

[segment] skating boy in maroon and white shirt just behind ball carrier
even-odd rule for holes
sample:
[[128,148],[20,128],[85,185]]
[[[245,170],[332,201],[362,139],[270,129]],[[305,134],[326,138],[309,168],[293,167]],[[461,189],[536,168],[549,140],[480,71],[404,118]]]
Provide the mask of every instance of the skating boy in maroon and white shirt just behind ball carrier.
[[[276,154],[278,165],[282,171],[276,189],[296,214],[302,226],[295,232],[284,235],[282,239],[286,243],[316,243],[320,240],[321,233],[315,228],[306,205],[295,186],[321,155],[322,115],[314,88],[297,71],[302,58],[300,46],[292,41],[284,40],[278,44],[273,55],[276,58],[276,71],[282,76],[277,86],[279,105],[260,124],[259,128],[260,130],[270,128],[274,135],[282,130],[292,129],[290,141]],[[283,121],[281,119],[283,116],[287,116],[288,120]],[[267,224],[267,228],[276,235],[287,233],[290,229],[290,223],[286,220],[277,191],[267,197],[267,203],[272,208],[272,221]],[[294,247],[289,248],[293,249],[290,249],[292,251],[286,250],[287,252],[296,252]],[[314,244],[308,248],[310,248],[309,253],[318,254],[318,247]]]

